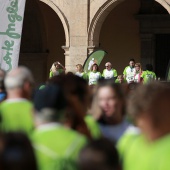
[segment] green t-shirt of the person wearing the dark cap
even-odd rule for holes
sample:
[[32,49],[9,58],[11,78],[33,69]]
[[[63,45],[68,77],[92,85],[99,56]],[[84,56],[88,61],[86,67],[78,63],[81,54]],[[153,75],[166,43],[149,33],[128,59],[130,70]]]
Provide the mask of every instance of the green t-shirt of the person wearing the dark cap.
[[[38,166],[40,170],[53,170],[57,160],[76,160],[86,138],[57,123],[46,124],[32,134]],[[56,169],[55,169],[56,170]]]

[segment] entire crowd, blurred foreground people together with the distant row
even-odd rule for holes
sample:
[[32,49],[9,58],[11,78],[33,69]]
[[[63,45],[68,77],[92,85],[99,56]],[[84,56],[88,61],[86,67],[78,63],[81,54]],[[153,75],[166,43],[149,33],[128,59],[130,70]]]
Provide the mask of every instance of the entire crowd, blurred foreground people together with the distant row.
[[55,62],[38,88],[24,66],[0,70],[0,169],[169,170],[169,83],[133,59],[105,66]]

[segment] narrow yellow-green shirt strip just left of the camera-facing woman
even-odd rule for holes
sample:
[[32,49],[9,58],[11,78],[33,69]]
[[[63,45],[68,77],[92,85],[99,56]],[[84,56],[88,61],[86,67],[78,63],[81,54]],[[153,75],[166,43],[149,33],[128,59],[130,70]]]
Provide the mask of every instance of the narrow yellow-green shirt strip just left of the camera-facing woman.
[[94,139],[99,139],[101,137],[101,131],[98,123],[94,120],[94,118],[91,115],[86,115],[85,122],[91,132],[92,137]]

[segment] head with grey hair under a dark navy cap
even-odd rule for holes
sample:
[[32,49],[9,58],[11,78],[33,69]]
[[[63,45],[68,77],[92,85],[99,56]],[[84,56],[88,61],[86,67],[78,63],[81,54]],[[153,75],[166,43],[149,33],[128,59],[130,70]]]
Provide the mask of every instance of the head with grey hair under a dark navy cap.
[[66,100],[57,85],[47,85],[37,91],[34,97],[35,114],[42,122],[56,122],[63,116]]

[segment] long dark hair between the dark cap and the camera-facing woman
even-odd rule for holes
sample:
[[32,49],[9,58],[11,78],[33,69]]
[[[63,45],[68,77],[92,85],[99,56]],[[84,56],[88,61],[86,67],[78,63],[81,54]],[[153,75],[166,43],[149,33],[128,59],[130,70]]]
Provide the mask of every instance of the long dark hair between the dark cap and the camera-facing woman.
[[70,127],[91,137],[84,121],[86,104],[88,106],[86,102],[89,102],[89,100],[87,101],[89,95],[87,81],[74,74],[67,74],[54,76],[49,79],[48,83],[58,84],[63,88],[67,101],[67,123]]

